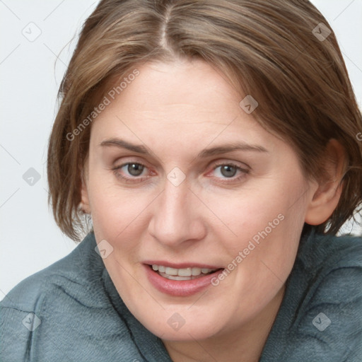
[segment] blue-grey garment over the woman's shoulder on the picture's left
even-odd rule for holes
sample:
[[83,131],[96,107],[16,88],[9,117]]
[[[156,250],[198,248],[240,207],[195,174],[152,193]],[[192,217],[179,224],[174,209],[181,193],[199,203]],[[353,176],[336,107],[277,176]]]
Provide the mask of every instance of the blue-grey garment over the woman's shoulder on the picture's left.
[[21,281],[1,300],[1,361],[139,357],[110,302],[105,280],[111,282],[95,247],[94,234],[88,234],[68,256]]

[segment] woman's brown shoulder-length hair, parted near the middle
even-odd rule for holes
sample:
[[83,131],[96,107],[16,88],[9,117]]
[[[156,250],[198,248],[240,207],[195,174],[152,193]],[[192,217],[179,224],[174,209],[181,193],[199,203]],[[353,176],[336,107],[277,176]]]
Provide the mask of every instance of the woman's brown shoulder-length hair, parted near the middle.
[[60,86],[49,139],[49,204],[59,228],[73,240],[87,232],[78,204],[95,105],[139,64],[177,58],[203,59],[252,95],[253,115],[293,146],[306,176],[325,177],[329,139],[344,146],[339,204],[317,226],[337,233],[361,205],[362,119],[335,35],[308,0],[100,1]]

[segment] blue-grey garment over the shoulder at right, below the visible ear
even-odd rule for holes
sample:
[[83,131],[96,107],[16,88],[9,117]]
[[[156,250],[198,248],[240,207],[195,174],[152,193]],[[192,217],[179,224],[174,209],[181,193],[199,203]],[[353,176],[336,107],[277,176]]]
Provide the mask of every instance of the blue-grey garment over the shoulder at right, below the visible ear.
[[301,238],[261,361],[362,361],[361,238]]

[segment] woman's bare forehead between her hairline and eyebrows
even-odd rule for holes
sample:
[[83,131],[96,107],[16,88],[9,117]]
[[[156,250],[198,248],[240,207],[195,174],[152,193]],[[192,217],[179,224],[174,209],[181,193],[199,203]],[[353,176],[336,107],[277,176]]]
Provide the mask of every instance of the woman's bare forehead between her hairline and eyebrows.
[[120,82],[110,87],[110,104],[93,122],[91,142],[127,134],[138,144],[147,139],[165,147],[177,141],[180,149],[231,139],[273,144],[252,113],[240,107],[245,95],[206,62],[157,62],[135,68],[138,76],[125,79],[122,87]]

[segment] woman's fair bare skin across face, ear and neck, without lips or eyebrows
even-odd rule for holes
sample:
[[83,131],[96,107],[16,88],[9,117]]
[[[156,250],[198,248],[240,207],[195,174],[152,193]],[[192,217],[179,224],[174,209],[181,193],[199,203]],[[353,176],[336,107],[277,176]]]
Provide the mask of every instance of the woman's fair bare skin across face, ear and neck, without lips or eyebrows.
[[[173,361],[258,361],[304,222],[322,223],[337,206],[343,150],[329,144],[334,182],[318,185],[303,176],[291,146],[240,108],[245,95],[208,64],[178,60],[137,69],[139,76],[93,122],[85,164],[83,209],[97,242],[113,247],[105,267],[129,310],[163,340]],[[115,137],[150,154],[100,146]],[[267,151],[197,157],[235,141]],[[113,170],[127,163],[144,165],[141,176],[128,165]],[[230,163],[244,171],[231,168],[230,177],[217,167]],[[167,178],[175,167],[186,177],[178,186]],[[284,220],[206,293],[168,296],[146,278],[147,259],[227,268],[280,214]],[[177,331],[168,324],[174,313],[185,320]]]

